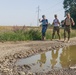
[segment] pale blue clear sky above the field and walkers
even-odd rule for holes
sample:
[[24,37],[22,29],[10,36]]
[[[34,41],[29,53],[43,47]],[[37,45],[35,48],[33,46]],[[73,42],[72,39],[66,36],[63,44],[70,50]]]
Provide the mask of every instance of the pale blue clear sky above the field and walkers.
[[64,19],[63,0],[0,0],[0,25],[37,26],[38,6],[40,19],[45,15],[52,23],[54,14]]

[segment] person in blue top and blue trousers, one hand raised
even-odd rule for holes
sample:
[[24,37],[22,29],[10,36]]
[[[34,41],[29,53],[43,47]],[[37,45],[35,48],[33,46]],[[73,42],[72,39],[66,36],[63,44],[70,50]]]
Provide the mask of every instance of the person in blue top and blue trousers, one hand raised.
[[39,22],[42,23],[42,40],[45,38],[45,33],[48,26],[48,20],[45,18],[45,15],[42,15],[42,20],[39,19]]

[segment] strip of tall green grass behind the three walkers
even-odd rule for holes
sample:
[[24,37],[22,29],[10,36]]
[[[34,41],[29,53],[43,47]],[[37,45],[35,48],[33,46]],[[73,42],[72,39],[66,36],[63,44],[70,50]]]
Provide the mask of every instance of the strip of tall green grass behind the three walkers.
[[[52,38],[52,29],[47,29],[46,39]],[[60,30],[61,38],[64,37],[64,30]],[[76,37],[76,30],[71,30],[71,37]],[[58,39],[58,35],[55,34],[54,39]],[[26,41],[26,40],[41,40],[41,28],[26,29],[25,26],[13,27],[13,30],[1,32],[0,41]]]

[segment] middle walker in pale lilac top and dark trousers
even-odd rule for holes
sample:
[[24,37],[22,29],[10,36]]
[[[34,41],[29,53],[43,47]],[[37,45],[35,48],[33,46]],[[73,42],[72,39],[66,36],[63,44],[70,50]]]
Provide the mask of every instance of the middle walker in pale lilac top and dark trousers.
[[54,38],[55,32],[57,32],[59,40],[60,40],[60,22],[57,18],[57,15],[54,15],[55,19],[53,20],[53,33],[52,33],[52,39]]

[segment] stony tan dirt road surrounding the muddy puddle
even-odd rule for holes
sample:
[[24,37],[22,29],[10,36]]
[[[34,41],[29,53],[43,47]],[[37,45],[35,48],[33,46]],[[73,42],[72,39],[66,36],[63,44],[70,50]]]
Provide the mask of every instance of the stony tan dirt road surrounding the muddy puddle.
[[18,59],[68,45],[76,45],[76,38],[72,38],[69,43],[63,40],[0,42],[0,75],[76,75],[75,68],[51,70],[48,73],[32,73],[28,65],[15,65]]

